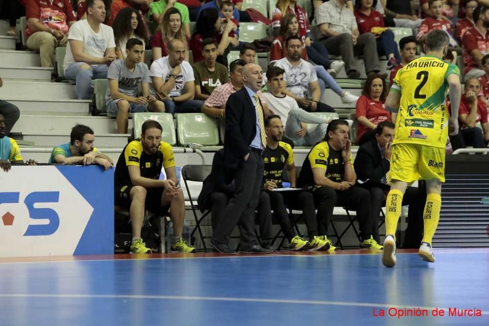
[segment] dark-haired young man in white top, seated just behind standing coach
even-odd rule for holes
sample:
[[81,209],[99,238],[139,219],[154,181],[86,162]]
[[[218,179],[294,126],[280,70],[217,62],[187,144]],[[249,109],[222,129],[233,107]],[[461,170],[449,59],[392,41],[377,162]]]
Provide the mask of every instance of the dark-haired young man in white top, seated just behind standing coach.
[[[280,122],[285,124],[285,134],[292,139],[295,146],[313,146],[324,138],[329,120],[300,109],[293,98],[283,93],[286,86],[284,73],[285,70],[278,66],[268,67],[269,93],[263,93],[262,96],[268,106],[278,114]],[[317,124],[317,126],[313,130],[308,130],[306,123]]]

